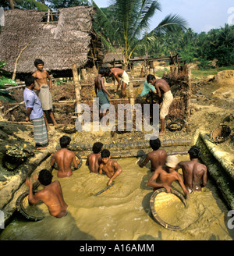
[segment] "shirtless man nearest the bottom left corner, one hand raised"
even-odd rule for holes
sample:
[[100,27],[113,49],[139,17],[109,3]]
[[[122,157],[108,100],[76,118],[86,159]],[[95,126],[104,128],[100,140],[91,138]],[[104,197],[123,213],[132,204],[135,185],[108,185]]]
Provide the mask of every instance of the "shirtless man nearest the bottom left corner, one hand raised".
[[68,205],[63,199],[62,188],[58,180],[51,183],[52,174],[47,169],[41,170],[37,181],[43,186],[43,190],[33,194],[33,183],[27,178],[26,184],[29,187],[28,201],[30,204],[37,204],[43,201],[47,205],[50,215],[56,218],[62,218],[67,215],[66,209]]

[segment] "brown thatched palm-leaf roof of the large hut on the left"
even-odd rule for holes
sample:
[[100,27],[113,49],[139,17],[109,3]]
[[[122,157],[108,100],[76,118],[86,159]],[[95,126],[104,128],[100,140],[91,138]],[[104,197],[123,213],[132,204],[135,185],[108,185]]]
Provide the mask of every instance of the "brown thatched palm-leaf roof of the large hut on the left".
[[59,9],[58,23],[41,23],[45,12],[13,9],[5,11],[5,27],[0,34],[0,60],[7,62],[6,69],[13,71],[20,55],[17,73],[35,70],[34,59],[42,59],[50,70],[72,69],[84,66],[90,51],[90,30],[94,8],[76,6]]

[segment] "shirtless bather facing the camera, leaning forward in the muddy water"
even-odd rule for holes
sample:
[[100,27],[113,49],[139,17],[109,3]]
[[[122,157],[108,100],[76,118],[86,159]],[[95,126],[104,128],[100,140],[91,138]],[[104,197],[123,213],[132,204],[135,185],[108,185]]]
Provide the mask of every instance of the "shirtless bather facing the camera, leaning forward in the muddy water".
[[118,162],[110,160],[110,151],[108,149],[103,149],[101,151],[101,164],[99,167],[99,174],[105,172],[110,180],[108,181],[108,185],[112,183],[115,177],[119,176],[122,172],[121,167],[119,166]]

